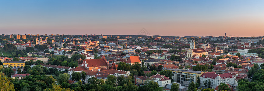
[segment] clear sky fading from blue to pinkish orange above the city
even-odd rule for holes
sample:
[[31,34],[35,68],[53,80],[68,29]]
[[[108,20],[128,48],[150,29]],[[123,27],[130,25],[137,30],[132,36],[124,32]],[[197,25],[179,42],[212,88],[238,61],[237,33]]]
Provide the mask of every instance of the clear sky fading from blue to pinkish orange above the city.
[[0,34],[263,36],[264,0],[1,0]]

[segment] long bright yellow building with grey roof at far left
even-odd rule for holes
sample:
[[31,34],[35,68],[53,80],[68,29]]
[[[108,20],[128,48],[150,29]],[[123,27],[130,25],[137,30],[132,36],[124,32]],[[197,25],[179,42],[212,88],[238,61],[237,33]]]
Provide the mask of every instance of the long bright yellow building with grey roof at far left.
[[3,65],[8,65],[11,67],[25,67],[24,61],[4,61]]

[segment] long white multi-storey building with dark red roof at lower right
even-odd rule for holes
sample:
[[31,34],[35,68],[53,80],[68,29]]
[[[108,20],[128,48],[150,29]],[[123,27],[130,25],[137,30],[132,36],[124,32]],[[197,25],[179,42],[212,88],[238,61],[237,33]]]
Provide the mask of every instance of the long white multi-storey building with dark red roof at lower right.
[[200,76],[200,86],[204,86],[203,82],[207,81],[208,83],[208,80],[211,81],[212,88],[216,88],[216,86],[218,86],[220,83],[226,83],[234,86],[235,79],[236,77],[231,73],[216,74],[215,72],[207,72],[203,73],[202,76]]

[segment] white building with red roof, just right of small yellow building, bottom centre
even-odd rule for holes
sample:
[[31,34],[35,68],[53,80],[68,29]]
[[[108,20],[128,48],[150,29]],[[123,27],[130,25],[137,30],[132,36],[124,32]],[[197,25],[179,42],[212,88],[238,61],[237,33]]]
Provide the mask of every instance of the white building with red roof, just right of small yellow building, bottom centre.
[[151,80],[154,80],[154,82],[157,82],[160,87],[164,87],[164,86],[167,86],[167,84],[171,84],[171,79],[169,79],[169,77],[166,77],[164,75],[153,75],[153,76],[150,76],[150,79]]

